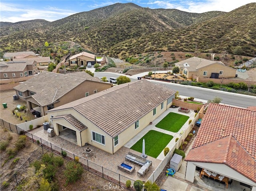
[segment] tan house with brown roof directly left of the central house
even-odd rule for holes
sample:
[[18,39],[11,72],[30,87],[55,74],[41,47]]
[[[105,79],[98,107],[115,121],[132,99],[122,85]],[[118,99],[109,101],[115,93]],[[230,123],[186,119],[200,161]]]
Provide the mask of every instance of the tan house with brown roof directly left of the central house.
[[100,82],[86,72],[77,73],[64,75],[44,71],[14,89],[18,97],[27,102],[29,110],[33,108],[45,115],[54,107],[111,87],[110,83]]

